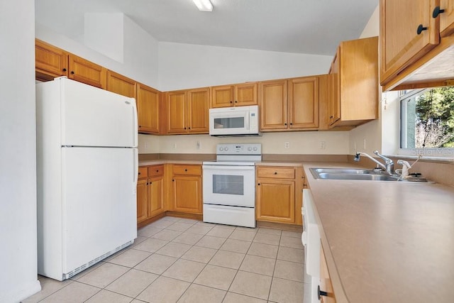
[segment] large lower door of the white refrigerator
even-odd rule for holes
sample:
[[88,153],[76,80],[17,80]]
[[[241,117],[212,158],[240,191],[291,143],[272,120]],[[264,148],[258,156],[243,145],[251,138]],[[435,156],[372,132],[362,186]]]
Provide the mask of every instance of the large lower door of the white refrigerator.
[[137,237],[135,148],[62,148],[62,271]]

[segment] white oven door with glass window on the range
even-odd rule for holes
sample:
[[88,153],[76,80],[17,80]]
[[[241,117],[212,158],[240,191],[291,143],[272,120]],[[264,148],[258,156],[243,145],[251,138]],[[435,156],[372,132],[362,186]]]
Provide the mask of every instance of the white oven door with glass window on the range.
[[255,167],[203,165],[204,203],[255,206]]

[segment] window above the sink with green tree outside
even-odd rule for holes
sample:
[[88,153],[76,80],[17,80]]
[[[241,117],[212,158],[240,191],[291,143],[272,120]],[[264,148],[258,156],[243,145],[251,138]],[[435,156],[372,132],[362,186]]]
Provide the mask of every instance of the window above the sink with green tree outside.
[[402,91],[400,100],[401,148],[454,148],[454,87]]

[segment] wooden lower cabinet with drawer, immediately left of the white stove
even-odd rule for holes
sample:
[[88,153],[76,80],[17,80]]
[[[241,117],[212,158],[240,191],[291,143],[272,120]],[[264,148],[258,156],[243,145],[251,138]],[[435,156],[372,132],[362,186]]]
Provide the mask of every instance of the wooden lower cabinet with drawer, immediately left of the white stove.
[[172,211],[201,214],[201,165],[172,165]]

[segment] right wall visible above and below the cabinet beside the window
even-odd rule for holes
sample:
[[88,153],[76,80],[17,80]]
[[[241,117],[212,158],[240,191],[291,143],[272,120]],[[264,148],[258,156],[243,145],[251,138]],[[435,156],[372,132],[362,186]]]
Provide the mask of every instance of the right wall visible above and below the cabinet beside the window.
[[[380,34],[380,8],[377,6],[369,22],[362,31],[360,38],[373,37]],[[379,87],[379,119],[370,121],[350,131],[349,154],[357,151],[372,154],[374,150],[382,151],[382,88]],[[364,96],[366,99],[367,96]],[[365,148],[364,148],[365,146]]]

